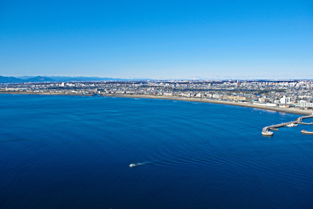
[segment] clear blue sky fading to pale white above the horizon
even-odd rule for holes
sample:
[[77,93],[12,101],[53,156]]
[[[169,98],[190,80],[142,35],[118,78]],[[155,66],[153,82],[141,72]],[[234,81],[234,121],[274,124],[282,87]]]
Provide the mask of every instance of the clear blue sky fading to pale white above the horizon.
[[313,0],[0,0],[0,75],[313,79]]

